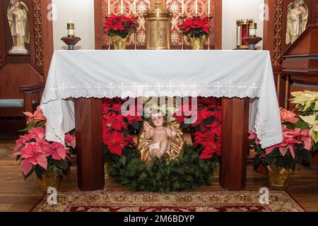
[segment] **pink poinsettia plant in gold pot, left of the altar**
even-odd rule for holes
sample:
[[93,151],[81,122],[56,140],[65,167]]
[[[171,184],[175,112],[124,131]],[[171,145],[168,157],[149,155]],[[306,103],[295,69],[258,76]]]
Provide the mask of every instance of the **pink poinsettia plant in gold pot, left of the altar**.
[[16,141],[13,152],[25,179],[35,172],[40,189],[47,191],[49,187],[59,188],[62,174],[70,164],[69,155],[74,150],[75,136],[66,134],[65,146],[61,143],[45,140],[46,119],[40,107],[34,114],[25,113],[29,118],[25,135]]

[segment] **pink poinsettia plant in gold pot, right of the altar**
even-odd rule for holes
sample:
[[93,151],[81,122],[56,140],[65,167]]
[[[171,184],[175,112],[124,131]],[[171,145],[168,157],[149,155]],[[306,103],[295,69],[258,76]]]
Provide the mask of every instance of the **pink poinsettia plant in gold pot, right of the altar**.
[[290,174],[296,162],[309,162],[312,138],[309,129],[297,114],[281,109],[283,142],[269,148],[261,148],[257,135],[249,131],[249,148],[256,151],[254,167],[261,163],[266,166],[269,185],[273,189],[284,190],[288,187]]

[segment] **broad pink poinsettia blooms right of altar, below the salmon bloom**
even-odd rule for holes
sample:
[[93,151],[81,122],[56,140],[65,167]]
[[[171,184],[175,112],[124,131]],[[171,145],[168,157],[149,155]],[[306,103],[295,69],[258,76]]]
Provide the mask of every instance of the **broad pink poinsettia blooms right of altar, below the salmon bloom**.
[[269,155],[269,153],[271,153],[275,148],[279,148],[281,155],[285,156],[287,151],[289,150],[290,154],[295,159],[294,145],[301,143],[304,143],[306,150],[310,150],[312,145],[312,138],[308,136],[307,129],[300,131],[299,128],[295,130],[285,128],[283,129],[283,142],[266,148],[266,155]]

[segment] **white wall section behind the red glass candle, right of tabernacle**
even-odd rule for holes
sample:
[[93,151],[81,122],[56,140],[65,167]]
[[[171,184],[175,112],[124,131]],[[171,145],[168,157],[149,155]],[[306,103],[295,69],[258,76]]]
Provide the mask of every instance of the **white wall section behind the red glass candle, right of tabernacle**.
[[[257,36],[263,37],[263,21],[259,15],[262,13],[259,7],[264,0],[223,0],[222,16],[222,47],[223,49],[235,49],[236,47],[236,20],[254,19],[257,23]],[[262,47],[263,42],[258,46]]]

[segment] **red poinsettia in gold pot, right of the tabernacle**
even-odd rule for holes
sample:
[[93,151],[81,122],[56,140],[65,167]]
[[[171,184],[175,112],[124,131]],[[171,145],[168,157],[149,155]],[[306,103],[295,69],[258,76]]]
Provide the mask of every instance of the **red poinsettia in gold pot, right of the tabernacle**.
[[192,49],[204,49],[204,43],[211,32],[208,18],[187,18],[179,28],[188,37]]

